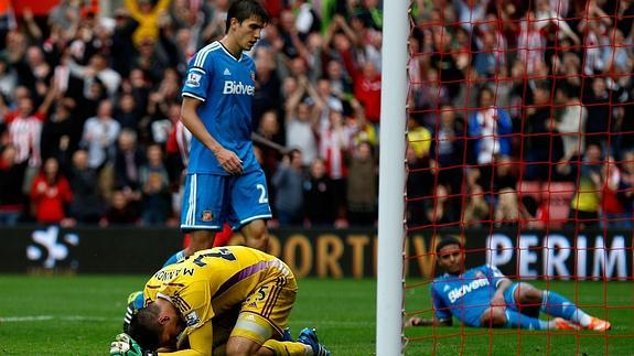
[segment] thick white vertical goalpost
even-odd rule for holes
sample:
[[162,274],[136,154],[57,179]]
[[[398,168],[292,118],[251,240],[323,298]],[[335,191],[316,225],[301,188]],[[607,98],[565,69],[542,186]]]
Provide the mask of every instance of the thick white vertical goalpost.
[[384,1],[376,355],[402,355],[409,0]]

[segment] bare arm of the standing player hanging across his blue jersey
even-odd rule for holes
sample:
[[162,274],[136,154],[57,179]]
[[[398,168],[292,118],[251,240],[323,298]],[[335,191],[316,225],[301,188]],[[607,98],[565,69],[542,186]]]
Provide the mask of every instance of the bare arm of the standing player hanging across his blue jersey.
[[212,133],[207,130],[203,120],[196,111],[203,101],[187,95],[183,95],[183,104],[181,106],[181,121],[190,130],[190,132],[201,141],[209,151],[214,153],[218,163],[227,173],[239,174],[243,171],[243,161],[234,153],[225,149],[222,144],[214,139]]

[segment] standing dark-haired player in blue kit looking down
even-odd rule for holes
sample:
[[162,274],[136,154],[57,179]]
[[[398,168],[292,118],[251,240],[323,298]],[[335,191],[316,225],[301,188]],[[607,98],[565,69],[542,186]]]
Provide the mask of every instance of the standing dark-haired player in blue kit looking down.
[[212,248],[225,222],[240,229],[247,246],[267,248],[271,209],[251,142],[256,66],[244,52],[255,45],[268,22],[257,0],[234,1],[225,36],[190,61],[181,120],[193,138],[181,229],[190,234],[191,242],[175,260]]

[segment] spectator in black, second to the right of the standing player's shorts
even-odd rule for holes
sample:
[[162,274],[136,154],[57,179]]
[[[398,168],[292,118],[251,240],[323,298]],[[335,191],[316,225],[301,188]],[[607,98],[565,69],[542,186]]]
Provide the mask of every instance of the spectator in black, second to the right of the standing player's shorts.
[[332,227],[337,217],[335,191],[321,159],[312,162],[303,188],[305,218],[310,225]]

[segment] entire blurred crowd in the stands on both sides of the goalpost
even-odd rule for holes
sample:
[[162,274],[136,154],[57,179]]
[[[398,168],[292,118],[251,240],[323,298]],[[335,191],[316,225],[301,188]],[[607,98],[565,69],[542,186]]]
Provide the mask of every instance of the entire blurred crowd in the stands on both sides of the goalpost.
[[[0,15],[0,225],[178,225],[186,63],[228,0]],[[254,131],[280,226],[377,219],[383,4],[268,0]],[[631,227],[634,1],[417,0],[411,229]],[[405,84],[404,84],[405,85]]]

